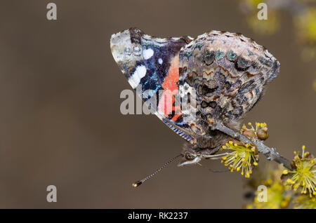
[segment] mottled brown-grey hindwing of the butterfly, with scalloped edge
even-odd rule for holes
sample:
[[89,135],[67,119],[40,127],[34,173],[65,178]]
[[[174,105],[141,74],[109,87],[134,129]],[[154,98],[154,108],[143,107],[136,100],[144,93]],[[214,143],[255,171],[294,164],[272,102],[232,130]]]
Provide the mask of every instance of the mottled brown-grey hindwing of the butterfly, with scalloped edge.
[[263,46],[241,34],[216,31],[184,46],[179,67],[183,94],[197,94],[197,107],[190,108],[196,116],[185,116],[197,134],[209,130],[209,119],[234,126],[279,72],[279,62]]

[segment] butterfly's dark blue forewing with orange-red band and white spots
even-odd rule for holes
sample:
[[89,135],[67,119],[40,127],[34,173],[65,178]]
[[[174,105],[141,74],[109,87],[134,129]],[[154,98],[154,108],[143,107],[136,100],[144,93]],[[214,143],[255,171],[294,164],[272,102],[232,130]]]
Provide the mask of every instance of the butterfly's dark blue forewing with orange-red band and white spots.
[[[189,142],[194,142],[190,127],[183,121],[178,101],[179,52],[192,41],[188,37],[157,38],[131,28],[111,38],[111,50],[138,96],[154,104],[156,114],[169,128]],[[154,100],[152,100],[154,99]]]

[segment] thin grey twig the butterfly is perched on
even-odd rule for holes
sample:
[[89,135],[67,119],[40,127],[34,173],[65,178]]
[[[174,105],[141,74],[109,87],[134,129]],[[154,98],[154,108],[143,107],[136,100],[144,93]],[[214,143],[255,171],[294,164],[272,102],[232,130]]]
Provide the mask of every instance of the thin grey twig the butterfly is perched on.
[[267,147],[265,144],[263,144],[263,141],[249,139],[248,137],[240,133],[237,133],[235,130],[232,130],[224,126],[222,123],[216,121],[213,122],[210,125],[210,127],[212,130],[220,130],[221,132],[230,135],[231,137],[235,138],[236,140],[239,140],[240,142],[245,142],[247,144],[255,144],[258,148],[258,151],[261,154],[265,155],[268,158],[268,161],[275,161],[277,163],[284,165],[284,167],[288,168],[289,170],[292,170],[291,162],[287,160],[287,158],[281,156],[275,148]]

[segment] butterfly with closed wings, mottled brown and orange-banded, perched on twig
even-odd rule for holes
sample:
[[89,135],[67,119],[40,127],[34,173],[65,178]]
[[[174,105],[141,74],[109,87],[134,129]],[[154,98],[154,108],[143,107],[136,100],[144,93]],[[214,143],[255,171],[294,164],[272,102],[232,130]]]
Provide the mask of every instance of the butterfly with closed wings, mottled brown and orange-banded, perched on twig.
[[131,28],[112,35],[111,50],[132,88],[141,86],[138,96],[144,102],[156,98],[154,114],[192,151],[212,153],[227,141],[211,130],[210,120],[239,128],[279,72],[268,50],[230,32],[157,38]]

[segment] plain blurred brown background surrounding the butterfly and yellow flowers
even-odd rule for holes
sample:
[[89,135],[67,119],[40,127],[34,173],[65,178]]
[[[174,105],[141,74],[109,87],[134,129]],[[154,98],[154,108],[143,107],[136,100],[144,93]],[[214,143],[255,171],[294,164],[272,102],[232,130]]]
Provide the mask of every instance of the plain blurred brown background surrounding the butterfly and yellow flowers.
[[[173,163],[131,187],[183,140],[155,116],[119,111],[131,87],[110,35],[129,27],[162,37],[228,30],[267,47],[281,72],[245,123],[268,123],[267,144],[287,158],[302,144],[315,154],[315,65],[301,61],[289,13],[264,36],[247,26],[239,1],[54,0],[56,21],[46,19],[49,2],[0,2],[0,208],[242,208],[246,180],[237,173]],[[46,201],[51,184],[57,203]]]

